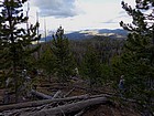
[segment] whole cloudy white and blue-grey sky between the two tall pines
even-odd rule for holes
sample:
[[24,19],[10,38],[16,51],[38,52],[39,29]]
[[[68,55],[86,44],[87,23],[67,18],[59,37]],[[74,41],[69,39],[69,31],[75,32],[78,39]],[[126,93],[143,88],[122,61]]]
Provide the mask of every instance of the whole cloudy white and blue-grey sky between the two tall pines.
[[[134,0],[124,0],[127,2]],[[30,0],[30,22],[40,15],[41,30],[62,25],[65,31],[85,29],[118,29],[121,20],[128,21],[121,0]]]

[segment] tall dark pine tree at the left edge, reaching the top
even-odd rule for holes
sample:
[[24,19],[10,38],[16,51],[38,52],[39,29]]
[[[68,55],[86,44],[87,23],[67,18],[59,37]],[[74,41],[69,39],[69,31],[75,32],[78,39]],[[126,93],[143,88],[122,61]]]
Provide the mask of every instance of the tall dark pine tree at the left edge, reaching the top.
[[19,86],[22,84],[21,72],[26,67],[26,57],[36,51],[32,42],[37,41],[38,22],[28,29],[28,15],[24,17],[23,4],[28,0],[3,0],[0,3],[0,70],[6,72],[6,81],[12,80],[15,102]]

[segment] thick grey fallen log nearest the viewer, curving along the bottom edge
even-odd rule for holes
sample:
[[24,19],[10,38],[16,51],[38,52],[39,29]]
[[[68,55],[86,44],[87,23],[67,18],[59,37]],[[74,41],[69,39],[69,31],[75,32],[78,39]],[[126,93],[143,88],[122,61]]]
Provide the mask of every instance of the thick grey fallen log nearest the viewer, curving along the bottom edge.
[[80,101],[73,104],[62,105],[55,108],[38,110],[37,113],[25,114],[23,116],[55,116],[55,115],[62,116],[63,114],[78,112],[86,107],[90,107],[98,104],[105,104],[105,103],[108,103],[108,99],[106,97],[97,97],[97,98]]

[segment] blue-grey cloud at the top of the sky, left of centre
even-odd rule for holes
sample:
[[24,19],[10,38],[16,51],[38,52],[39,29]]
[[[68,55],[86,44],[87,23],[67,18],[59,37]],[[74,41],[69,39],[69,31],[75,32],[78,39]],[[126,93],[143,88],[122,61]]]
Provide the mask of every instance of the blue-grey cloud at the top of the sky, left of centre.
[[31,2],[38,8],[42,17],[67,18],[78,14],[75,0],[33,0]]

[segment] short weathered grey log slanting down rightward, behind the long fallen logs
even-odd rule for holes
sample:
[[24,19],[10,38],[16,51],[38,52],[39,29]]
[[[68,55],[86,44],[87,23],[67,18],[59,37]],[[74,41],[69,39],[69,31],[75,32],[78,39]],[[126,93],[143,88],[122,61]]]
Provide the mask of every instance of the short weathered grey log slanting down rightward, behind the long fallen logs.
[[41,97],[41,98],[44,98],[44,99],[52,99],[52,98],[53,98],[53,97],[50,96],[50,95],[40,93],[40,92],[37,92],[37,91],[34,91],[34,89],[31,91],[31,94],[32,94],[32,95],[35,95],[35,96],[38,96],[38,97]]

